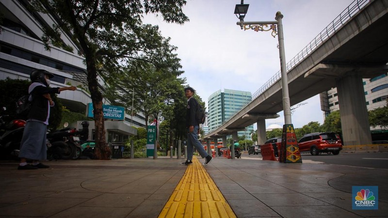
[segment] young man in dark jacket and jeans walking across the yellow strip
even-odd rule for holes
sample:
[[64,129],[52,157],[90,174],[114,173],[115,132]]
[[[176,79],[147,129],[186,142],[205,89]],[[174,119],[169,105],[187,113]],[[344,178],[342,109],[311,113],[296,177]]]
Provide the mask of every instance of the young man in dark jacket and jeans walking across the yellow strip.
[[185,95],[187,98],[187,113],[186,113],[186,126],[188,128],[187,133],[187,160],[181,163],[181,165],[193,164],[194,148],[198,151],[199,155],[205,159],[204,166],[207,166],[213,159],[203,148],[201,142],[198,140],[199,122],[195,119],[195,113],[197,112],[198,101],[193,97],[195,91],[191,87],[185,88]]

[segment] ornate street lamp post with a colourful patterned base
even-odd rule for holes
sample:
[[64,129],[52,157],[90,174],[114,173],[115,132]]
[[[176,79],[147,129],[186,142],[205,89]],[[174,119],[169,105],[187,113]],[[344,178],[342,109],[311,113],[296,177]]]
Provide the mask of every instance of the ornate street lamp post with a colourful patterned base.
[[[244,4],[244,0],[241,0],[241,4],[236,4],[234,9],[234,14],[240,19],[237,22],[237,25],[241,27],[242,30],[253,30],[253,31],[272,31],[271,34],[273,37],[278,39],[278,48],[279,48],[279,57],[280,57],[280,71],[282,79],[282,92],[283,92],[283,113],[284,113],[284,125],[283,125],[283,136],[282,136],[282,146],[279,156],[279,161],[284,163],[296,163],[302,162],[300,156],[298,143],[296,140],[295,131],[291,122],[291,105],[290,105],[290,95],[288,90],[288,78],[287,78],[287,68],[286,68],[286,58],[284,51],[284,35],[283,35],[283,24],[282,18],[283,15],[278,11],[275,15],[274,21],[254,21],[254,22],[244,22],[244,17],[248,12],[249,4]],[[269,25],[269,26],[268,26]]]

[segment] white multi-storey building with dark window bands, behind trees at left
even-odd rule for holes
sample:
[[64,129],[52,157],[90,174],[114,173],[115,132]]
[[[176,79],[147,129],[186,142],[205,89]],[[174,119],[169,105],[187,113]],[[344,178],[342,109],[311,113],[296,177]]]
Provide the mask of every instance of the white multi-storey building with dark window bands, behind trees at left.
[[[71,41],[70,35],[62,32],[61,39],[69,47],[51,47],[48,51],[42,42],[43,27],[51,27],[56,23],[52,16],[29,11],[28,1],[0,0],[0,13],[3,15],[0,26],[0,79],[30,79],[34,69],[44,69],[55,75],[51,81],[53,87],[64,87],[86,84],[86,66],[84,58],[79,55],[78,47]],[[98,78],[100,89],[103,90],[104,81]],[[85,86],[86,87],[86,86]],[[62,92],[58,95],[67,109],[81,113],[86,112],[86,105],[91,102],[90,94],[82,89],[75,92]],[[103,104],[109,102],[103,100]],[[121,121],[125,129],[110,129],[105,124],[107,135],[127,134],[131,117],[126,114],[125,121]],[[135,127],[145,127],[145,117],[139,113],[133,116]],[[117,126],[117,125],[113,125]],[[125,127],[127,126],[127,127]],[[120,127],[121,128],[121,127]]]

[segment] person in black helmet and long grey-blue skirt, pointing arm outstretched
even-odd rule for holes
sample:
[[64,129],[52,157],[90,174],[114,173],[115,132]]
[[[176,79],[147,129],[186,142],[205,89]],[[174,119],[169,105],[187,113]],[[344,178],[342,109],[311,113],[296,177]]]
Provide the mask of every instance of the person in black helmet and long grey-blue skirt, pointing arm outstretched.
[[[53,77],[54,75],[46,70],[33,70],[30,74],[32,84],[28,88],[28,93],[31,109],[20,142],[18,170],[49,168],[39,160],[47,158],[47,125],[49,125],[50,107],[54,106],[50,93],[59,94],[61,91],[77,89],[74,86],[50,88],[50,79]],[[32,160],[32,165],[27,164],[27,159]]]

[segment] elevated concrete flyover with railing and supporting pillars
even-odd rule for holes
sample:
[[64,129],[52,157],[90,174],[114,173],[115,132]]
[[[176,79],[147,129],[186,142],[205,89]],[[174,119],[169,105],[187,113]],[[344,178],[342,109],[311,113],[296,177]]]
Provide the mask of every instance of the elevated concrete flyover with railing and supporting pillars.
[[[353,2],[287,64],[291,106],[338,88],[345,145],[371,143],[362,78],[388,71],[387,12],[388,0]],[[259,143],[264,142],[265,119],[283,110],[281,89],[278,72],[249,104],[204,138],[225,137],[258,123]]]

